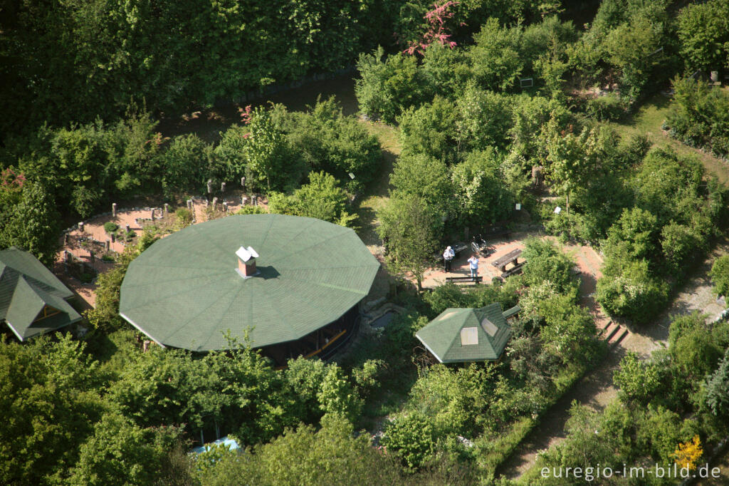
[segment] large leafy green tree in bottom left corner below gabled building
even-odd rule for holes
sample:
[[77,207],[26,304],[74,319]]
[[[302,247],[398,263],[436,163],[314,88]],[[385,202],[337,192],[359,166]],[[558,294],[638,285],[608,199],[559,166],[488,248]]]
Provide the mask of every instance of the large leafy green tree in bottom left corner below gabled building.
[[65,482],[79,446],[106,409],[98,363],[70,334],[58,342],[0,339],[0,482]]

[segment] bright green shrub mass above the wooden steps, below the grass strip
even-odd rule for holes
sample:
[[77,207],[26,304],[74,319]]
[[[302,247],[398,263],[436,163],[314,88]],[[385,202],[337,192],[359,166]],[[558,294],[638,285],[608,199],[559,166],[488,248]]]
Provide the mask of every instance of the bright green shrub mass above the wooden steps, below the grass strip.
[[682,281],[725,220],[727,192],[703,180],[701,163],[652,150],[636,168],[635,201],[603,243],[598,299],[608,312],[645,323],[668,299],[666,278]]

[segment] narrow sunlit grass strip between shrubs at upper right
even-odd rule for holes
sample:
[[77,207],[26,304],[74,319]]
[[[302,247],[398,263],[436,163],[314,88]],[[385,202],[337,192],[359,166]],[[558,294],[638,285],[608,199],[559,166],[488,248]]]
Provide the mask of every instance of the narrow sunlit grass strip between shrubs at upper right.
[[680,155],[694,155],[698,157],[709,174],[716,174],[723,183],[729,182],[729,165],[685,144],[671,139],[664,134],[660,126],[666,120],[668,109],[671,107],[671,100],[661,94],[656,94],[645,101],[633,115],[626,117],[619,123],[609,123],[622,136],[633,134],[646,135],[654,145],[665,146],[668,144]]

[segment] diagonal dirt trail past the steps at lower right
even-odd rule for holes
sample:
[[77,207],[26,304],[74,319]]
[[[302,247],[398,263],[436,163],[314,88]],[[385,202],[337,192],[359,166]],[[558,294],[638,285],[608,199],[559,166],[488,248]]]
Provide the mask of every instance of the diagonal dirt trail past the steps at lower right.
[[[579,250],[579,247],[577,247]],[[577,261],[580,263],[580,254],[577,252]],[[600,411],[615,399],[617,390],[612,386],[612,373],[617,369],[620,359],[626,352],[632,351],[643,358],[650,356],[650,352],[667,345],[668,324],[671,316],[690,314],[694,311],[709,315],[714,319],[725,308],[723,303],[717,301],[712,294],[712,285],[708,277],[709,269],[715,258],[729,253],[729,239],[722,239],[708,258],[693,272],[693,277],[678,293],[665,312],[655,323],[636,328],[622,342],[609,351],[609,355],[596,369],[582,377],[568,393],[566,393],[543,417],[541,423],[526,436],[518,449],[497,471],[497,474],[515,479],[524,474],[537,458],[537,453],[548,447],[553,447],[565,438],[564,425],[569,418],[569,407],[572,401],[590,406]],[[588,277],[589,278],[589,277]],[[583,281],[584,282],[584,281]],[[585,288],[589,291],[590,287]]]

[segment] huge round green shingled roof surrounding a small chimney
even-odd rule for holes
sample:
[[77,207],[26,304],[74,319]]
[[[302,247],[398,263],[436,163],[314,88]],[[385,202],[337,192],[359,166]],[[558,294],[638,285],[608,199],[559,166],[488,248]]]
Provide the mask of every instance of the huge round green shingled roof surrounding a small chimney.
[[[236,271],[253,247],[256,277]],[[120,315],[160,344],[221,350],[223,335],[254,347],[300,339],[370,291],[380,264],[350,228],[311,217],[237,215],[191,225],[134,260]]]

